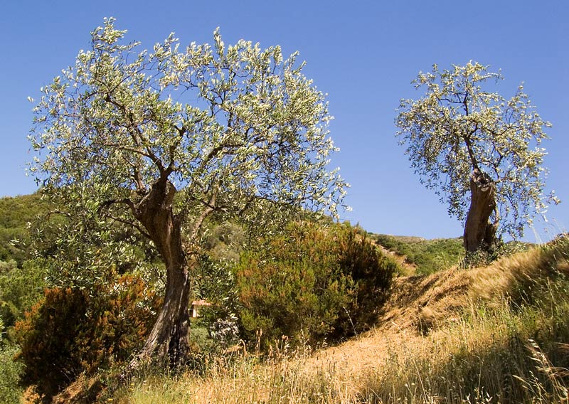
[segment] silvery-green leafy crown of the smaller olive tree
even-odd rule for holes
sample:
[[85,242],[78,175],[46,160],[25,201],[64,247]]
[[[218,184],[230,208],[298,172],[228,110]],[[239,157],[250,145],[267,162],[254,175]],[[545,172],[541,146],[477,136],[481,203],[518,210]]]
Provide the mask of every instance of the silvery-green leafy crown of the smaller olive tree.
[[543,128],[551,124],[538,115],[523,85],[509,100],[485,90],[487,82],[501,79],[479,63],[442,71],[433,65],[413,81],[424,95],[400,101],[397,136],[421,184],[434,189],[462,223],[470,174],[474,169],[489,174],[497,203],[491,220],[501,223],[499,233],[516,238],[535,213],[558,203],[553,193],[543,194],[547,171],[541,142],[548,139]]

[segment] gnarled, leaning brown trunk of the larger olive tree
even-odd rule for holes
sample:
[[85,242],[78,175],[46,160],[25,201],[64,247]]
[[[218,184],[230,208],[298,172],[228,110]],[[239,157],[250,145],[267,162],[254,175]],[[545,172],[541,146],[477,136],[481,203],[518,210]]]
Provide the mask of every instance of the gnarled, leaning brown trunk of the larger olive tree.
[[150,361],[178,366],[188,354],[190,277],[181,220],[172,211],[175,193],[176,188],[167,179],[159,179],[134,207],[134,216],[147,230],[166,265],[166,294],[142,351],[129,365],[131,370]]

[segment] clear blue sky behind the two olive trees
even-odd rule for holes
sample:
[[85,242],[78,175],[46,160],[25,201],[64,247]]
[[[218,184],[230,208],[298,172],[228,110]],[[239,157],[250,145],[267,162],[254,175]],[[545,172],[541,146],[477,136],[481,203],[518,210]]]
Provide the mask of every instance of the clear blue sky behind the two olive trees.
[[[171,31],[181,43],[239,38],[285,53],[299,50],[304,73],[329,93],[341,148],[334,165],[351,184],[344,214],[376,233],[425,238],[462,235],[460,223],[419,184],[395,139],[395,108],[418,97],[420,70],[476,60],[501,69],[502,95],[525,90],[553,123],[548,188],[564,200],[536,223],[541,240],[569,227],[569,3],[567,1],[5,1],[0,14],[0,196],[32,193],[28,96],[50,83],[87,48],[105,16],[151,48]],[[526,230],[527,240],[535,240]]]

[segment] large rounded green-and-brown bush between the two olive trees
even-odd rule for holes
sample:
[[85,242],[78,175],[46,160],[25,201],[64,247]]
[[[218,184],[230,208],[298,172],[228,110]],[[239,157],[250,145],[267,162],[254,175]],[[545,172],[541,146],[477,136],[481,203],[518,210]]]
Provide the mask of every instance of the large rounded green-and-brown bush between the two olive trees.
[[350,225],[294,223],[235,268],[245,338],[341,339],[376,320],[395,263]]

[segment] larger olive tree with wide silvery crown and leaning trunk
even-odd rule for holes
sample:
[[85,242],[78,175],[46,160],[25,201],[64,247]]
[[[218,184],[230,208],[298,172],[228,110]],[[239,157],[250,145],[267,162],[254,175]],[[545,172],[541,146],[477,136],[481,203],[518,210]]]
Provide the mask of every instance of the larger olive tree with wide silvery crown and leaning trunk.
[[[131,366],[181,363],[204,220],[263,225],[301,211],[336,214],[345,188],[326,95],[294,53],[238,41],[181,50],[126,42],[113,18],[43,87],[30,139],[43,191],[151,240],[166,267],[164,304]],[[63,209],[63,208],[62,208]],[[89,231],[89,229],[85,229]]]

